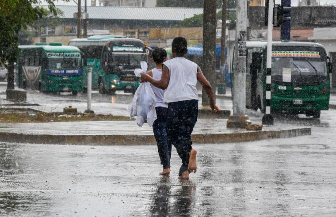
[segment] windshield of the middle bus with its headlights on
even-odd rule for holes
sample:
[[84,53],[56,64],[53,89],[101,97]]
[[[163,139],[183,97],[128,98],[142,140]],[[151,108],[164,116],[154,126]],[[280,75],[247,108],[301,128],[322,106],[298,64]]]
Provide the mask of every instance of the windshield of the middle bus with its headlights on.
[[140,62],[146,61],[145,53],[113,53],[112,65],[117,67],[140,68]]

